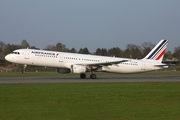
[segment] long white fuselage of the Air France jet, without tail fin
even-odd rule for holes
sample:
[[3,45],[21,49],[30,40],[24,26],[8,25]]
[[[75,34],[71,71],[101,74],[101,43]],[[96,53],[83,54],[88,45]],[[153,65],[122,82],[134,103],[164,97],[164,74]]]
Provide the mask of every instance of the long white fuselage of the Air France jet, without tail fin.
[[85,65],[126,60],[126,62],[121,62],[119,64],[111,64],[108,66],[101,65],[100,70],[115,73],[137,73],[163,68],[157,66],[162,65],[162,63],[151,60],[136,60],[128,58],[105,57],[97,55],[85,55],[33,49],[15,50],[12,54],[6,56],[6,60],[17,64],[69,69],[71,69],[71,65],[74,64]]

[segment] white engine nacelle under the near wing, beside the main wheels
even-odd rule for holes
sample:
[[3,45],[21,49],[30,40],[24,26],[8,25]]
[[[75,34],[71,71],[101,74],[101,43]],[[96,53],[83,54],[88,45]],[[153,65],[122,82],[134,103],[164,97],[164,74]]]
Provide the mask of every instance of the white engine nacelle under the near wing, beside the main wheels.
[[86,67],[82,65],[72,65],[71,66],[72,73],[85,73],[86,72]]

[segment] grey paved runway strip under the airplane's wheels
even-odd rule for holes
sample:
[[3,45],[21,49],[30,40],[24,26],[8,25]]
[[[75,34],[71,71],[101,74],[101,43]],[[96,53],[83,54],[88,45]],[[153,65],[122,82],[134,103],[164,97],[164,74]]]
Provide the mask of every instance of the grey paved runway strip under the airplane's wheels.
[[56,77],[0,77],[0,84],[43,83],[119,83],[119,82],[180,82],[180,76],[98,76],[80,79],[78,76]]

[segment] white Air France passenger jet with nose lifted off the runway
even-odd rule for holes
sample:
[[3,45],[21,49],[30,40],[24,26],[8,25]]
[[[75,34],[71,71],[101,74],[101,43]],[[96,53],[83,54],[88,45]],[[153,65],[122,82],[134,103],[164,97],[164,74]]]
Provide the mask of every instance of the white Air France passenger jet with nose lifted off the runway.
[[131,58],[105,57],[35,49],[17,49],[5,56],[9,62],[24,65],[22,73],[26,73],[27,65],[57,68],[58,73],[77,73],[86,78],[91,72],[91,79],[96,79],[94,72],[138,73],[167,68],[161,63],[168,40],[160,42],[140,60]]

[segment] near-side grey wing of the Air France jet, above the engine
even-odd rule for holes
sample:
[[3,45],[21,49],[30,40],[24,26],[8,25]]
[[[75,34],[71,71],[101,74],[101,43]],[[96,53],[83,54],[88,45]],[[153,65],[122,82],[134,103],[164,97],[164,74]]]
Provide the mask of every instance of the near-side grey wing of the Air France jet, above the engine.
[[100,66],[108,66],[108,65],[117,65],[117,64],[119,64],[119,63],[127,62],[127,61],[128,61],[128,60],[121,60],[121,61],[113,61],[113,62],[85,63],[85,64],[79,64],[79,65],[100,67]]

